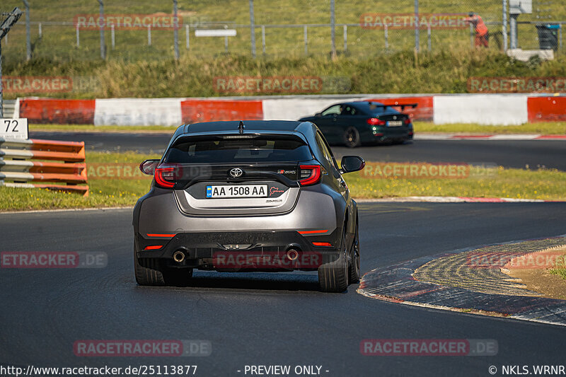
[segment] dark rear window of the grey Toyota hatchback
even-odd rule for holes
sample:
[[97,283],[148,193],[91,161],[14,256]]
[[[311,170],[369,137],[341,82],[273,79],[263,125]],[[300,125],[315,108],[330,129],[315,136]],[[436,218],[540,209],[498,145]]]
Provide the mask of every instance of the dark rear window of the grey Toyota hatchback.
[[185,137],[168,150],[166,163],[288,162],[311,160],[305,142],[293,136]]

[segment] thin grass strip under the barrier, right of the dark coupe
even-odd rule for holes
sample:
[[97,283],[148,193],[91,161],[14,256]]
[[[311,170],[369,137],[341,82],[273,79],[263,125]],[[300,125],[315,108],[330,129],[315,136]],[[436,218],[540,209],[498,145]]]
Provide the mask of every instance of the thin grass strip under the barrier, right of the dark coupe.
[[485,126],[483,124],[434,124],[415,122],[415,132],[464,132],[469,134],[566,134],[566,122],[536,122],[520,126]]

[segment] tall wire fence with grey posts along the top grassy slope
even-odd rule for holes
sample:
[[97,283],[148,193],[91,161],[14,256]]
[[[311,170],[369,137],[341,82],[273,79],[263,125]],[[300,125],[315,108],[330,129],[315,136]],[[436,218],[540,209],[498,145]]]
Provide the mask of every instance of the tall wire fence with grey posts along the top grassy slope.
[[[12,0],[7,3],[2,7],[21,5],[19,1]],[[245,0],[180,0],[176,26],[171,21],[172,1],[139,1],[134,6],[123,6],[120,1],[105,1],[103,18],[100,18],[96,0],[29,0],[29,3],[33,59],[100,59],[100,25],[105,32],[107,59],[174,57],[175,28],[182,56],[215,57],[226,52],[250,55],[253,50],[250,2]],[[371,57],[410,50],[415,46],[420,52],[473,48],[478,42],[475,40],[476,28],[466,22],[470,12],[480,16],[489,30],[487,48],[503,50],[504,3],[508,1],[336,0],[335,51],[354,57]],[[256,54],[258,57],[330,57],[333,51],[330,8],[330,0],[288,0],[277,4],[267,0],[253,1]],[[129,23],[126,23],[128,17]],[[538,49],[541,44],[545,47],[554,40],[547,43],[540,38],[550,37],[555,38],[560,50],[561,28],[547,28],[566,20],[566,9],[559,0],[533,0],[531,13],[521,14],[515,20],[507,6],[505,17],[507,21],[517,23],[516,39],[513,39],[512,29],[506,23],[509,42],[516,40],[516,47]],[[25,21],[23,16],[8,38],[3,40],[4,54],[12,62],[26,59]],[[197,36],[199,30],[235,30],[235,35],[222,36],[218,31],[220,36],[200,37]]]

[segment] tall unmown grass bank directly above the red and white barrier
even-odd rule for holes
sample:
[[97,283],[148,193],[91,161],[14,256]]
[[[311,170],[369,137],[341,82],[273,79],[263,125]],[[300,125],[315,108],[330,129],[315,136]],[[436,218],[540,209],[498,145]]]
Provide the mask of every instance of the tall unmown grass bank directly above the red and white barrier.
[[[412,51],[365,57],[324,55],[252,59],[243,55],[218,58],[182,57],[180,62],[161,60],[122,62],[33,59],[30,62],[5,59],[6,76],[69,76],[73,91],[65,93],[14,93],[53,98],[161,98],[212,97],[219,95],[281,94],[219,93],[217,76],[318,76],[323,79],[318,94],[356,93],[466,93],[473,76],[566,76],[566,57],[551,62],[527,64],[499,52],[471,54],[461,48],[423,53],[415,62]],[[328,84],[325,84],[328,83]],[[342,85],[345,83],[345,85]]]

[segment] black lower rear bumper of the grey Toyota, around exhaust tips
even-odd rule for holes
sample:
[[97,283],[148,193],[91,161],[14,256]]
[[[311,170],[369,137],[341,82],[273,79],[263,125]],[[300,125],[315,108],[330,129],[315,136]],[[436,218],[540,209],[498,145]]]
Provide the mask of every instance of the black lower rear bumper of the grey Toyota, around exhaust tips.
[[[171,238],[136,235],[137,257],[158,258],[169,267],[216,269],[219,271],[311,271],[338,259],[336,232],[323,236],[303,236],[297,231],[182,232]],[[316,246],[313,242],[330,243]],[[155,248],[161,245],[161,248]],[[154,248],[151,248],[151,247]],[[149,248],[149,250],[144,250]],[[287,256],[296,250],[296,260]],[[183,262],[173,253],[181,251]]]

